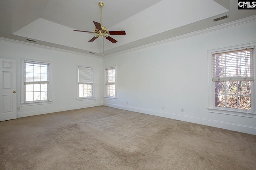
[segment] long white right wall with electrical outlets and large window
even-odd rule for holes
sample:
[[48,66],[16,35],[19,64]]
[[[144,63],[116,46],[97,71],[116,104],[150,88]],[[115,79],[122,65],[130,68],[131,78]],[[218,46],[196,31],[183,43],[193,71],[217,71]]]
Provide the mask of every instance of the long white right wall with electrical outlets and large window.
[[208,50],[256,41],[255,30],[254,20],[106,57],[103,68],[117,67],[118,99],[103,104],[256,135],[256,118],[207,109]]

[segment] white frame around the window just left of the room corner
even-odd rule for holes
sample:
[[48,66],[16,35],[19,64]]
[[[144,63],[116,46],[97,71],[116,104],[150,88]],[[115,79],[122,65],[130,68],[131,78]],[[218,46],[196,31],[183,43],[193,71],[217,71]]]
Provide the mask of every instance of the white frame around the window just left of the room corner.
[[[84,68],[92,68],[92,96],[88,96],[88,97],[79,97],[79,67],[84,67]],[[84,65],[77,65],[76,66],[76,77],[77,77],[77,81],[76,81],[76,100],[80,101],[80,100],[94,100],[94,67],[92,66],[84,66]]]

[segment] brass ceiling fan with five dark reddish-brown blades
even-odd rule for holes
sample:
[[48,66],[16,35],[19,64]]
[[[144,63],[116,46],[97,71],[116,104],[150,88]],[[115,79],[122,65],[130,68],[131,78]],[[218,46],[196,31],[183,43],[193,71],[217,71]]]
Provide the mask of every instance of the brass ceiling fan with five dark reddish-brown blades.
[[113,39],[112,37],[110,37],[109,35],[125,35],[126,33],[125,33],[125,31],[108,31],[108,29],[106,27],[103,27],[101,25],[101,20],[102,20],[102,6],[104,6],[104,3],[99,2],[99,6],[100,6],[100,23],[93,21],[93,23],[95,25],[95,28],[94,28],[95,31],[94,32],[81,31],[81,30],[74,30],[74,31],[98,34],[98,35],[95,35],[92,39],[90,39],[89,42],[94,41],[98,37],[104,37],[104,38],[108,39],[109,41],[111,41],[112,43],[116,43],[117,41],[115,39]]

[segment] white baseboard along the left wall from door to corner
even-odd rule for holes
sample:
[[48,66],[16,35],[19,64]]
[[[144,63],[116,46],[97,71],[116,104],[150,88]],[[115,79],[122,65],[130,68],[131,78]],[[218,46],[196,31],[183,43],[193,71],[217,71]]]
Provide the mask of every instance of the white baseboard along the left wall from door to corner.
[[34,115],[42,115],[46,113],[54,113],[58,111],[67,111],[74,109],[82,109],[86,107],[94,107],[94,106],[102,106],[102,103],[93,103],[93,104],[85,104],[85,105],[76,105],[76,106],[68,106],[68,107],[58,107],[58,108],[50,108],[50,109],[38,109],[33,111],[23,111],[17,113],[17,118],[34,116]]

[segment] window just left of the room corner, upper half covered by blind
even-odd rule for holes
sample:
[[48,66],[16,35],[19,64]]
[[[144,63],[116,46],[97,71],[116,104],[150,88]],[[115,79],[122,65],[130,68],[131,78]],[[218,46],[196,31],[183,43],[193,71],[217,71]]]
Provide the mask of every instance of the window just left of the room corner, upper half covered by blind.
[[91,98],[93,89],[93,68],[78,66],[78,98]]

